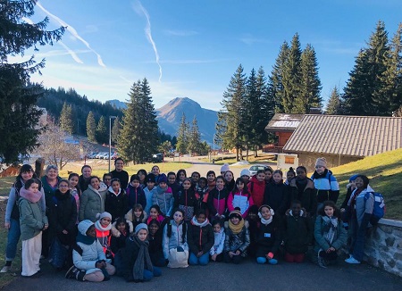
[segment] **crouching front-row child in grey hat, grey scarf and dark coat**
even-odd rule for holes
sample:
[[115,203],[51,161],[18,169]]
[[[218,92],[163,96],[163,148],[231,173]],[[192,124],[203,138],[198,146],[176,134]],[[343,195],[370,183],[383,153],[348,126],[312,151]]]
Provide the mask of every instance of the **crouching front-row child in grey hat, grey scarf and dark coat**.
[[126,247],[116,254],[117,274],[127,282],[145,282],[162,275],[162,271],[151,262],[147,236],[147,224],[138,224],[135,234],[127,240]]

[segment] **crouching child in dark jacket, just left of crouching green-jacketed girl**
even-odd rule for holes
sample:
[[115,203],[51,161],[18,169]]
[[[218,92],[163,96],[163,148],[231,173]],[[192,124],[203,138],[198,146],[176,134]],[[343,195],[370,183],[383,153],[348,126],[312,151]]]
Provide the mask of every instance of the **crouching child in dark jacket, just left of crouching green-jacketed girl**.
[[311,220],[307,219],[306,212],[301,210],[300,201],[293,201],[284,225],[286,262],[304,261],[307,246],[313,238],[313,231]]

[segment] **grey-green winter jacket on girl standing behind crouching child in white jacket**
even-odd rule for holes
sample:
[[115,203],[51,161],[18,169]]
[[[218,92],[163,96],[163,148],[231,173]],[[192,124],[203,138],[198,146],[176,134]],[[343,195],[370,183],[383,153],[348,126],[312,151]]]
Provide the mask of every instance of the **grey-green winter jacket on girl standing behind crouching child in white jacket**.
[[96,190],[92,186],[88,186],[80,197],[79,219],[96,221],[96,214],[105,212],[105,196],[107,192],[106,185],[101,182],[99,189]]

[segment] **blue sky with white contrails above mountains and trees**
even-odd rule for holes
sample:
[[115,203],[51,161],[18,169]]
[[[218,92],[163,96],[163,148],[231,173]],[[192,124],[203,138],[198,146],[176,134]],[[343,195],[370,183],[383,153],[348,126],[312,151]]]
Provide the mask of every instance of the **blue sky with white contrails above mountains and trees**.
[[393,37],[402,1],[41,0],[24,21],[46,16],[47,29],[67,30],[54,46],[26,52],[46,58],[33,81],[124,102],[131,85],[147,78],[155,108],[186,96],[220,110],[239,64],[247,75],[260,66],[270,75],[280,46],[295,33],[302,48],[314,47],[328,100],[333,87],[345,87],[378,21]]

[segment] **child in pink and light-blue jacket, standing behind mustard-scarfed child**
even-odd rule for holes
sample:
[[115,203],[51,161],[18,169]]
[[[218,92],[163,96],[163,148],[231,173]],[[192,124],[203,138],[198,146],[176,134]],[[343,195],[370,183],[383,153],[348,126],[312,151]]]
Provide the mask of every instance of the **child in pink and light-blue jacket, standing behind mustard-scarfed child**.
[[248,192],[244,180],[242,178],[236,179],[236,186],[228,196],[228,210],[232,212],[236,207],[239,207],[241,216],[245,219],[247,217],[248,208],[253,204],[253,198]]

